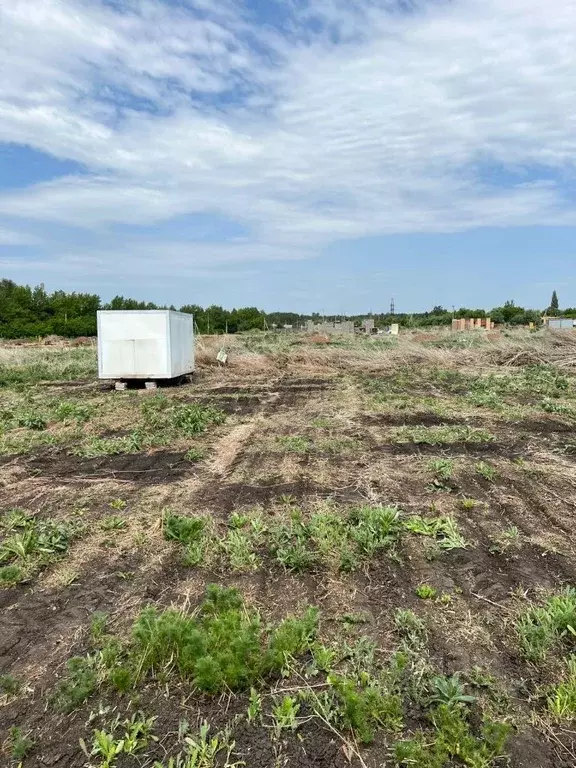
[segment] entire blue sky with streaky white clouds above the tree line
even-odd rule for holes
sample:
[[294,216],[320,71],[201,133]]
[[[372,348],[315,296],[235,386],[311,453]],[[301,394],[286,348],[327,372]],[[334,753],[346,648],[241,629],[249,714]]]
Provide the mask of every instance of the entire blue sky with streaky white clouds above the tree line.
[[576,305],[576,0],[0,2],[0,277]]

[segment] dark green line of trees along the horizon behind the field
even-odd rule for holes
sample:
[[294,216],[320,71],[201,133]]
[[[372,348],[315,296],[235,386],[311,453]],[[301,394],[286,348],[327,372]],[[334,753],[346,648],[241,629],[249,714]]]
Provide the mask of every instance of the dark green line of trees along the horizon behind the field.
[[[95,336],[96,312],[98,309],[176,309],[174,306],[159,306],[152,302],[115,296],[112,301],[103,303],[99,296],[92,293],[67,293],[54,291],[48,293],[43,285],[32,288],[17,285],[12,280],[0,280],[0,338],[19,339],[52,334],[66,337]],[[185,304],[179,307],[181,312],[194,315],[198,333],[241,333],[252,330],[272,330],[285,325],[299,327],[307,320],[314,322],[354,320],[358,324],[372,317],[377,327],[399,323],[406,328],[426,328],[438,325],[450,325],[453,317],[490,316],[495,323],[509,325],[527,325],[538,323],[541,310],[525,309],[507,301],[502,307],[495,307],[490,312],[483,309],[462,307],[453,312],[444,307],[435,306],[429,312],[416,313],[370,313],[339,316],[322,316],[319,313],[302,315],[297,312],[264,312],[257,307],[224,309],[212,305],[201,307],[197,304]],[[548,314],[562,314],[576,317],[576,308],[559,310],[556,292]]]

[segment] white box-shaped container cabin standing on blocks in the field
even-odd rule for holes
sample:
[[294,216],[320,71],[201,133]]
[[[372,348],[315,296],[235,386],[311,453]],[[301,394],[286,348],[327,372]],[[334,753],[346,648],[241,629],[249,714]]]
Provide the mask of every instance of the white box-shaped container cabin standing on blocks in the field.
[[100,310],[98,376],[176,379],[194,371],[194,318],[171,309]]

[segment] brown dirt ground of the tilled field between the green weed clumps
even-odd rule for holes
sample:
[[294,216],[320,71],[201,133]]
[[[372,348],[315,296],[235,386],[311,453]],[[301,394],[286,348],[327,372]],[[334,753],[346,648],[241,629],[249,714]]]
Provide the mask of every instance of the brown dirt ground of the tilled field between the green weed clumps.
[[[162,389],[160,397],[215,408],[225,414],[222,423],[190,439],[101,455],[89,455],[101,448],[96,441],[131,433],[142,404],[158,395],[114,392],[91,379],[3,390],[5,408],[24,407],[23,397],[50,413],[62,400],[91,408],[72,427],[48,419],[43,431],[6,430],[16,442],[0,456],[0,512],[72,521],[77,533],[65,553],[0,588],[0,674],[18,681],[17,691],[0,689],[3,764],[167,767],[184,743],[183,720],[190,732],[207,721],[233,750],[228,762],[222,751],[182,768],[393,766],[409,764],[398,762],[396,742],[418,733],[433,738],[425,697],[408,693],[401,726],[377,727],[366,745],[344,721],[315,716],[306,698],[294,728],[276,731],[273,707],[287,691],[327,684],[317,670],[304,681],[309,654],[299,671],[261,683],[262,714],[253,721],[249,691],[202,693],[169,677],[149,677],[124,693],[102,680],[71,711],[54,706],[67,661],[93,652],[97,612],[107,614],[109,632],[126,638],[144,606],[193,610],[206,585],[218,583],[237,587],[267,622],[317,606],[323,643],[349,646],[367,637],[378,664],[398,648],[398,609],[414,612],[426,628],[419,651],[426,664],[435,675],[458,673],[474,697],[465,705],[472,731],[488,715],[510,725],[503,754],[475,765],[576,765],[574,715],[555,718],[546,703],[550,686],[563,679],[569,645],[539,665],[523,655],[516,630],[531,606],[576,584],[575,378],[564,370],[560,391],[548,373],[526,378],[522,366],[470,371],[456,362],[450,375],[438,370],[201,369],[192,383]],[[490,397],[474,384],[478,377],[491,382]],[[520,384],[502,386],[502,377]],[[40,437],[46,433],[52,441]],[[191,446],[201,453],[195,460]],[[234,515],[276,520],[294,509],[306,517],[365,506],[396,507],[402,520],[449,517],[462,545],[443,549],[403,532],[392,550],[350,572],[318,563],[299,571],[262,542],[246,567],[220,555],[187,565],[180,545],[163,534],[167,514],[201,516],[210,520],[216,552]],[[114,517],[120,522],[107,522]],[[419,597],[422,585],[436,597]],[[81,740],[90,753],[95,729],[112,732],[115,718],[136,712],[156,718],[145,748],[110,763],[84,752]],[[22,758],[14,755],[14,727],[30,741]],[[438,763],[462,764],[472,763],[454,754]]]

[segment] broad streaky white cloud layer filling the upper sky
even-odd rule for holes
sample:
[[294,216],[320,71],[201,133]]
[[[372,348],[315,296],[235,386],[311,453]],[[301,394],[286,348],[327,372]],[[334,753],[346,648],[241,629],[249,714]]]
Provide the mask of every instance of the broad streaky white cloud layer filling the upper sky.
[[[250,233],[167,244],[161,263],[146,256],[151,271],[387,233],[576,224],[563,191],[576,171],[574,0],[409,13],[323,0],[295,6],[284,33],[216,0],[124,6],[0,9],[0,141],[92,172],[5,192],[0,214],[97,238],[209,212]],[[95,247],[108,263],[125,251]]]

